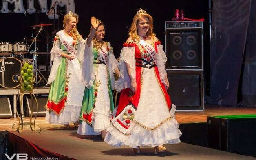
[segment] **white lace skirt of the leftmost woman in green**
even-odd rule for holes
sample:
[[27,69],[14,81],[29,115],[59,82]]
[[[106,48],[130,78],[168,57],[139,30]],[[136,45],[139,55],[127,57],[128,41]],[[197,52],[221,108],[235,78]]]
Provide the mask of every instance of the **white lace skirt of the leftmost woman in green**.
[[68,95],[64,109],[59,116],[53,112],[46,112],[46,120],[50,124],[66,124],[76,122],[79,119],[84,94],[84,85],[81,81],[82,69],[77,59],[69,61],[67,67],[69,78]]

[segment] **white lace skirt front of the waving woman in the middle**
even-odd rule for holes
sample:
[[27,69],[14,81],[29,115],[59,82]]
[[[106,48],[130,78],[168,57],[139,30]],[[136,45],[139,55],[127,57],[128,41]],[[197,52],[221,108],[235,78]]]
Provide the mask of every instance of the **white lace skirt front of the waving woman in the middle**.
[[98,81],[101,84],[98,89],[97,99],[95,107],[93,109],[93,124],[92,127],[86,122],[82,121],[79,124],[77,134],[79,135],[99,135],[100,131],[103,131],[110,125],[110,99],[108,95],[108,72],[106,65],[98,64]]

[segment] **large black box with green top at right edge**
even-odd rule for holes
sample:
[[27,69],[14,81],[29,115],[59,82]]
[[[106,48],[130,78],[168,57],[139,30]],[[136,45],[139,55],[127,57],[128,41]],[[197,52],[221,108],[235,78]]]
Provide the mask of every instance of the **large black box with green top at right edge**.
[[209,116],[208,147],[256,156],[256,115]]

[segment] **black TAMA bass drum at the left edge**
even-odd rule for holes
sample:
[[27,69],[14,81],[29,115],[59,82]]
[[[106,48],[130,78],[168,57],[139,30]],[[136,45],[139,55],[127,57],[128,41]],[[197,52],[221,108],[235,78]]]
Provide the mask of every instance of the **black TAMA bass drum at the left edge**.
[[20,75],[21,62],[17,58],[0,59],[0,86],[4,88],[16,88],[20,86],[18,76]]

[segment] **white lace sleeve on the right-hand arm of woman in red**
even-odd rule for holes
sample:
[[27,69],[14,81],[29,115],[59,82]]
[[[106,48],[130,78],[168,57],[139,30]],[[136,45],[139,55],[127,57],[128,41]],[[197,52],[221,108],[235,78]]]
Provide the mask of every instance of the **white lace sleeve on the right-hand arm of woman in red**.
[[163,51],[163,46],[157,45],[157,68],[159,70],[160,79],[163,83],[165,83],[165,76],[167,75],[165,70],[165,62],[167,61],[167,57],[165,52]]

